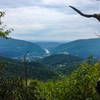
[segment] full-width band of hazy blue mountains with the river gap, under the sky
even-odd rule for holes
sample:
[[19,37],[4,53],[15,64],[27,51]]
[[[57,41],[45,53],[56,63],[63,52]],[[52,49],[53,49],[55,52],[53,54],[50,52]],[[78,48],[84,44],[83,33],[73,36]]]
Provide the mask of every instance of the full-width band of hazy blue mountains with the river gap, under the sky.
[[28,42],[17,39],[0,38],[0,56],[23,57],[27,51],[32,59],[45,57],[52,54],[71,54],[87,58],[93,54],[100,57],[100,39],[82,39],[68,43],[58,42]]

